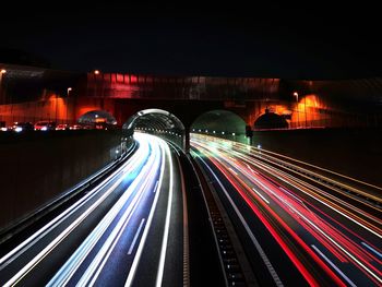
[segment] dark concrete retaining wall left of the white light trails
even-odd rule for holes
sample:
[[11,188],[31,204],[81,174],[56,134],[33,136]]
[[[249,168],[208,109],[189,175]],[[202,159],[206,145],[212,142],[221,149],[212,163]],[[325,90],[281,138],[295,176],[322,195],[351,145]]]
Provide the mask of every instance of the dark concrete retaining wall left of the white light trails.
[[120,131],[0,133],[0,229],[116,158]]

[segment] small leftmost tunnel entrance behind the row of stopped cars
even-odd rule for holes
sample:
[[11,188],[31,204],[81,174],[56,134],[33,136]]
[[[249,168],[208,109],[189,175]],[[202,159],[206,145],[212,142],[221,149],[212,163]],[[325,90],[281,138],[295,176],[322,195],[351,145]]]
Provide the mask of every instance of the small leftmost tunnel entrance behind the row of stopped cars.
[[82,115],[77,122],[92,129],[109,129],[117,124],[116,118],[105,110],[91,110]]

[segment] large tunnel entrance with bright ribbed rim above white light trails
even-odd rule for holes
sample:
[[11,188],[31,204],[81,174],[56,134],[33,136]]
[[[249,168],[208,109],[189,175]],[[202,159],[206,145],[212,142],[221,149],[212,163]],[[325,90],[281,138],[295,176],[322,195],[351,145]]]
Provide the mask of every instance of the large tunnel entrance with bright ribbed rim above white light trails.
[[160,136],[186,148],[186,129],[175,115],[162,109],[145,109],[131,116],[122,125],[126,135],[133,135],[134,131]]

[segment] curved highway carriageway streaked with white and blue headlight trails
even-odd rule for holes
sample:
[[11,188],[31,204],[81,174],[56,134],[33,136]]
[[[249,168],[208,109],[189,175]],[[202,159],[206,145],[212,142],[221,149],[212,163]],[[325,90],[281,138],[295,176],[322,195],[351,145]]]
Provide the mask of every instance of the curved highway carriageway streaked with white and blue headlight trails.
[[176,151],[138,151],[99,184],[1,250],[1,286],[188,285],[187,208]]

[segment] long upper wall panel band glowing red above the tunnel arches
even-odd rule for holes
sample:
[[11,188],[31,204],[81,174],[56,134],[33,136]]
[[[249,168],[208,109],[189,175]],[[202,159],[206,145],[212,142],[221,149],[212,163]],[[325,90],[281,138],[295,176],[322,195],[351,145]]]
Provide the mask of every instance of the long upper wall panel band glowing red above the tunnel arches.
[[87,73],[86,95],[111,98],[253,100],[277,98],[279,79]]

